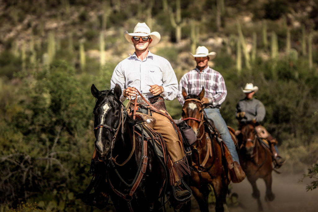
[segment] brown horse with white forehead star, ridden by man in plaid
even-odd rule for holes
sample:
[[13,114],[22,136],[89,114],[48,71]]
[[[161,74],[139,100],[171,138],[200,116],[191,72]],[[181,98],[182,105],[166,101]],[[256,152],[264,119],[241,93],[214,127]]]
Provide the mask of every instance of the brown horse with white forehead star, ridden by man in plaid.
[[[199,95],[189,94],[183,89],[185,99],[183,105],[182,119],[192,127],[197,135],[197,141],[192,149],[192,172],[190,188],[196,198],[201,211],[209,211],[208,195],[210,193],[208,184],[211,184],[216,197],[215,211],[224,211],[226,206],[226,195],[228,193],[227,166],[222,155],[222,149],[218,133],[211,129],[204,120],[204,106],[201,99],[204,97],[204,89]],[[213,123],[212,123],[213,125]],[[187,204],[182,211],[190,211],[191,205]]]

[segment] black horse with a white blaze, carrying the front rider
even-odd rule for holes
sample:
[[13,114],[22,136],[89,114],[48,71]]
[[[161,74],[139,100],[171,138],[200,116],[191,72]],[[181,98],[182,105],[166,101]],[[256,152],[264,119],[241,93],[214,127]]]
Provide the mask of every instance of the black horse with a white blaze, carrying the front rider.
[[95,148],[100,161],[108,164],[107,192],[116,211],[162,211],[159,200],[165,195],[167,172],[165,159],[153,148],[153,135],[142,127],[144,122],[127,115],[119,85],[114,92],[92,85],[91,92],[97,99]]

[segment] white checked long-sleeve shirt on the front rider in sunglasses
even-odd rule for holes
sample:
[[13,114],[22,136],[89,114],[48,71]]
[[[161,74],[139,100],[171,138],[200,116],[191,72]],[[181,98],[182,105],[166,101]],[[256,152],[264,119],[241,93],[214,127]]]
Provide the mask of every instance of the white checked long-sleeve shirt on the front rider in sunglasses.
[[[171,64],[150,51],[143,61],[137,58],[135,52],[122,60],[114,69],[110,88],[113,89],[116,84],[120,85],[121,91],[135,87],[147,100],[154,96],[149,92],[149,85],[162,86],[164,91],[161,96],[166,100],[173,100],[178,93],[178,80]],[[126,99],[122,92],[120,99]]]

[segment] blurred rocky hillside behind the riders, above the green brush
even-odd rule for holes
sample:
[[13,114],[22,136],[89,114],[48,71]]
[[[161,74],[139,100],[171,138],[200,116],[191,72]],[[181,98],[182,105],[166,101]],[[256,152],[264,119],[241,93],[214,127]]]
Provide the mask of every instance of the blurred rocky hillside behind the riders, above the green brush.
[[[123,31],[132,31],[137,22],[146,22],[162,35],[161,42],[151,51],[159,51],[178,72],[193,66],[188,52],[193,52],[197,45],[206,45],[218,53],[226,48],[235,59],[238,23],[249,53],[252,53],[253,33],[256,33],[258,56],[270,58],[274,31],[278,37],[278,50],[284,54],[288,29],[290,48],[305,55],[308,41],[302,41],[302,33],[305,36],[312,33],[312,43],[317,43],[316,11],[318,4],[314,0],[6,1],[0,6],[0,52],[11,52],[22,63],[36,51],[36,58],[44,62],[43,55],[49,51],[49,37],[53,33],[55,51],[61,51],[54,56],[56,58],[67,59],[63,50],[74,50],[68,59],[78,67],[80,44],[83,44],[88,58],[116,64],[133,51],[124,39]],[[100,59],[101,33],[105,51],[103,60]],[[315,51],[315,45],[313,49]]]

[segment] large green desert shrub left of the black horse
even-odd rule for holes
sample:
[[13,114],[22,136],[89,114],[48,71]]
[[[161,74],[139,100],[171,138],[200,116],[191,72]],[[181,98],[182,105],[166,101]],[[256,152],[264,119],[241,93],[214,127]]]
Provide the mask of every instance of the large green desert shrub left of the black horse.
[[2,204],[51,195],[54,189],[83,191],[89,182],[85,162],[93,151],[90,89],[65,62],[19,77],[24,82],[14,93],[17,101],[5,108],[10,115],[0,122]]

